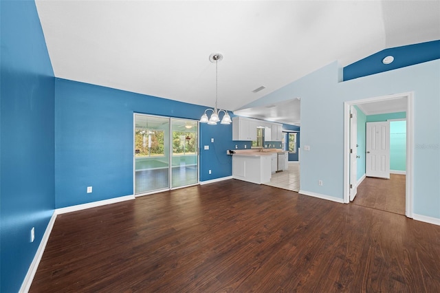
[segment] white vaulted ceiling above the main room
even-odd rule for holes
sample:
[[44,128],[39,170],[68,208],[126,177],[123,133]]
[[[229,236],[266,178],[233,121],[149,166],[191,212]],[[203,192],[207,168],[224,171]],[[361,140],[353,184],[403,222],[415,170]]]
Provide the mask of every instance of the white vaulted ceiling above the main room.
[[208,57],[220,52],[219,107],[228,110],[333,61],[349,65],[387,47],[440,39],[440,1],[36,0],[36,6],[56,77],[212,107],[215,65]]

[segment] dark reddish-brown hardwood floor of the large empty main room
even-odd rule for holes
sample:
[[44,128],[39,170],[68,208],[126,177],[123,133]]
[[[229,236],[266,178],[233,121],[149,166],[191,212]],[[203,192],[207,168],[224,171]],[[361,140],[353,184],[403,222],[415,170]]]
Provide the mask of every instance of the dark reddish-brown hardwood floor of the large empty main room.
[[58,215],[30,292],[440,292],[440,226],[226,180]]

